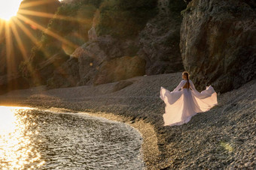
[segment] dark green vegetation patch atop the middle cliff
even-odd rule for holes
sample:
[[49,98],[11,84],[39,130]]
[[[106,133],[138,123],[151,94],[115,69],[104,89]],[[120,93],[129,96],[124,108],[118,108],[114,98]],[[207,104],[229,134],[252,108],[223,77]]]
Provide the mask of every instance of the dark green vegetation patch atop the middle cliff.
[[96,31],[99,35],[136,37],[148,19],[157,14],[157,0],[110,0],[99,7],[100,20]]

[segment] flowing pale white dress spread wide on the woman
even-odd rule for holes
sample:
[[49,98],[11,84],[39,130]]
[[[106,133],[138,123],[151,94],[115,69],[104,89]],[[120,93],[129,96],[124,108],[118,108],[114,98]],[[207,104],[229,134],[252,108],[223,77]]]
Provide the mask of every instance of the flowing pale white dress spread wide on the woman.
[[173,91],[161,87],[160,98],[166,103],[166,112],[163,114],[164,126],[186,124],[192,116],[206,112],[218,104],[217,94],[211,85],[206,86],[206,90],[198,92],[191,80],[189,82],[192,90],[182,88],[186,82],[187,80],[182,80]]

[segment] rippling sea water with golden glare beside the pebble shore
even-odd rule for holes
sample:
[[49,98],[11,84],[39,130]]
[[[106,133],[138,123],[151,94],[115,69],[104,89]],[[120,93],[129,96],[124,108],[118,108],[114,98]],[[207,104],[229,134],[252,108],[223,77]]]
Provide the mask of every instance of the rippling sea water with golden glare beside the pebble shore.
[[141,146],[120,122],[0,106],[0,169],[144,169]]

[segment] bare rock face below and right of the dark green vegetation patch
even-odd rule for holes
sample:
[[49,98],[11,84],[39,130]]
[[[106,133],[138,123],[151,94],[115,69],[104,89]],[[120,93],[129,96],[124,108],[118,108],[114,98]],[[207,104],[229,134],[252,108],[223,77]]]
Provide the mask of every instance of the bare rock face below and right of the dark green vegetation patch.
[[[110,35],[98,37],[92,28],[88,32],[90,40],[71,55],[78,59],[79,76],[74,78],[74,82],[80,79],[77,85],[99,85],[143,76],[145,73],[151,75],[184,70],[179,32],[180,12],[186,4],[180,0],[159,0],[157,6],[158,15],[148,22],[138,37],[121,40]],[[93,26],[99,22],[99,16],[97,10]],[[50,87],[65,87],[66,84],[62,83],[65,82],[64,77],[72,77],[69,71],[68,74],[60,72],[56,71],[48,81]]]

